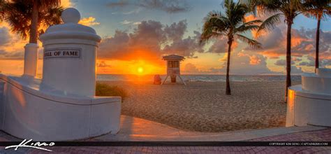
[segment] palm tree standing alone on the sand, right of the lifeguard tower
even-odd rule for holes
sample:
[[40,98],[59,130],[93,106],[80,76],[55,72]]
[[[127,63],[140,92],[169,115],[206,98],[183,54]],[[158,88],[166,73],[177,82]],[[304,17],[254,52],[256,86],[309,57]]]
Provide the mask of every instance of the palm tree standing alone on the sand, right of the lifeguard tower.
[[223,7],[225,13],[212,11],[205,18],[205,24],[203,25],[203,33],[201,34],[200,43],[209,41],[211,38],[220,36],[228,37],[228,62],[226,66],[226,94],[231,94],[230,90],[230,54],[231,46],[235,38],[240,41],[246,42],[252,47],[260,48],[261,45],[258,41],[248,38],[243,34],[247,31],[257,30],[259,26],[256,25],[261,20],[245,21],[244,17],[251,10],[246,4],[240,2],[233,2],[233,0],[225,0]]

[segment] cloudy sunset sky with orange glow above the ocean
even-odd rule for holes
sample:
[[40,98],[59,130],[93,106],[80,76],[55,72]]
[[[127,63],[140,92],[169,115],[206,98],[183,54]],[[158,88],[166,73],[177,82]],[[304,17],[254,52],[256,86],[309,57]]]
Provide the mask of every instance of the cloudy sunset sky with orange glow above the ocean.
[[[177,54],[185,74],[226,73],[227,38],[198,43],[203,18],[212,10],[223,10],[221,0],[62,0],[64,7],[77,8],[80,24],[94,28],[102,41],[98,47],[97,72],[112,74],[164,74],[163,55]],[[247,15],[247,20],[265,17]],[[282,20],[283,21],[283,20]],[[317,21],[298,15],[292,29],[292,73],[314,72]],[[331,68],[331,20],[321,22],[321,67]],[[251,34],[247,34],[251,36]],[[281,22],[257,40],[253,49],[235,40],[230,74],[284,74],[286,25]],[[24,45],[6,22],[0,24],[0,71],[23,73]],[[42,73],[42,43],[38,73]]]

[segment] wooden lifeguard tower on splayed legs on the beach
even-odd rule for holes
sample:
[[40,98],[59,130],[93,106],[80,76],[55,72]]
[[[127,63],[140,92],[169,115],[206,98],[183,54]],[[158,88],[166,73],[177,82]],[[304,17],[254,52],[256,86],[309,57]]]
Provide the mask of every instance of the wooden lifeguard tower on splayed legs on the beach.
[[167,61],[167,76],[163,80],[162,84],[167,80],[168,76],[171,78],[172,83],[176,83],[177,76],[180,80],[186,85],[182,77],[180,77],[180,62],[185,59],[182,56],[179,55],[167,55],[162,58],[163,60]]

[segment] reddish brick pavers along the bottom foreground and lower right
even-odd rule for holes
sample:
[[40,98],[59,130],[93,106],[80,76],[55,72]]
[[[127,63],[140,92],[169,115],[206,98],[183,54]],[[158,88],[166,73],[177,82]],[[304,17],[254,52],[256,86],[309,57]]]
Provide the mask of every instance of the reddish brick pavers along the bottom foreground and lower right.
[[[6,135],[0,136],[0,139]],[[10,139],[14,141],[13,138]],[[89,141],[96,141],[90,139]],[[316,130],[309,132],[298,132],[293,134],[282,134],[272,137],[263,137],[258,139],[251,139],[249,141],[331,141],[331,128],[325,130]],[[3,149],[3,147],[2,147]],[[286,146],[286,147],[209,147],[209,146],[147,146],[147,147],[50,147],[48,148],[54,153],[331,153],[331,147],[316,147],[316,146]],[[35,149],[24,149],[20,151],[1,150],[0,153],[49,153]]]

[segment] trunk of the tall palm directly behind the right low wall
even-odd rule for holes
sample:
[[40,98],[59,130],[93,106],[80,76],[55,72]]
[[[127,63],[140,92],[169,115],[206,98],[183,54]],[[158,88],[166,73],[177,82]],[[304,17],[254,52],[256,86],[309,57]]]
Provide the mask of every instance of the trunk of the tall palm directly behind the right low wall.
[[287,43],[286,43],[286,90],[285,90],[285,102],[287,102],[287,96],[288,96],[288,87],[290,87],[290,30],[292,29],[292,20],[287,21]]

